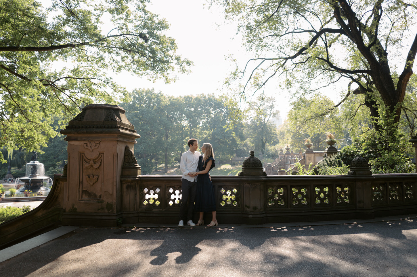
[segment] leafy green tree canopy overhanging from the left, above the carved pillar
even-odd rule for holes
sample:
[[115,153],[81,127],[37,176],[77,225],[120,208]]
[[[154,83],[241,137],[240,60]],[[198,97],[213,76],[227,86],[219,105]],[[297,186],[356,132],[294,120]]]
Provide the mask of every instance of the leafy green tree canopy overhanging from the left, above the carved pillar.
[[187,72],[191,62],[146,2],[53,0],[46,9],[0,0],[0,146],[37,150],[55,134],[50,114],[71,118],[82,104],[120,99],[125,89],[108,72],[166,83]]

